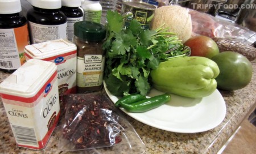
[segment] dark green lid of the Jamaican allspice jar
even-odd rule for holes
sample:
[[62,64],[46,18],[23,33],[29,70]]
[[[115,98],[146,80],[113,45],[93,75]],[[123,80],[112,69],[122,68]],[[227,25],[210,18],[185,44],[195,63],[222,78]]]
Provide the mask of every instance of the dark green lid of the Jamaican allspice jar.
[[74,24],[74,35],[82,40],[102,41],[106,37],[106,28],[100,23],[80,21]]

